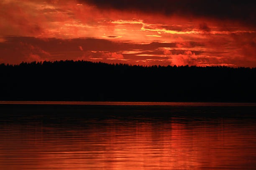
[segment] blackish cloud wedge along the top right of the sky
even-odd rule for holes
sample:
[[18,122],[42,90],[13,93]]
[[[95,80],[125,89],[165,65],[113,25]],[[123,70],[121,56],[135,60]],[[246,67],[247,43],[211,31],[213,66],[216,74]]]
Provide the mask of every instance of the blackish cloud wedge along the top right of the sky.
[[243,1],[209,1],[209,0],[79,0],[100,8],[118,10],[140,10],[164,15],[182,15],[187,17],[211,17],[239,20],[255,24],[256,2]]

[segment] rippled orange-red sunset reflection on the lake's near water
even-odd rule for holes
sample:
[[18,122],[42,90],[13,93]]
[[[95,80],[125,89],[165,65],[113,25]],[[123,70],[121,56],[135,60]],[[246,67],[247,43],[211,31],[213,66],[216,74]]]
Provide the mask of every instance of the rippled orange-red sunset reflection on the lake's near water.
[[0,168],[231,170],[255,165],[247,164],[255,151],[251,125],[241,129],[223,120],[217,124],[193,120],[181,124],[175,117],[145,120],[91,120],[80,128],[4,126]]

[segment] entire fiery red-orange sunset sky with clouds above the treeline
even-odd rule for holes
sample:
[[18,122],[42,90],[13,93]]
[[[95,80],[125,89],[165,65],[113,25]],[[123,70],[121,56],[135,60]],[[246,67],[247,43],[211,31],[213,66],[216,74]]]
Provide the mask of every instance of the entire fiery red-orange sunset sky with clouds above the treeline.
[[255,9],[247,1],[1,0],[0,63],[256,67]]

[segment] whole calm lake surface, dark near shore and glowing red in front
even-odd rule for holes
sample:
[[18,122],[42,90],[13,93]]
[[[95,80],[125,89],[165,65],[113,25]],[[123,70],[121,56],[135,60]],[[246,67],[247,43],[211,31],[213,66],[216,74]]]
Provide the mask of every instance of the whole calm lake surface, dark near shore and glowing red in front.
[[41,169],[253,170],[256,104],[0,102],[0,170]]

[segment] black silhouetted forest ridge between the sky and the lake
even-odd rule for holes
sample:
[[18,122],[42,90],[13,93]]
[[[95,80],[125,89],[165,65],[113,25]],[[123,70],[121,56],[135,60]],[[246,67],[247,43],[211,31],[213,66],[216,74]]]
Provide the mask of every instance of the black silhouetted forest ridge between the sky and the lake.
[[256,68],[89,61],[0,65],[0,100],[255,102]]

